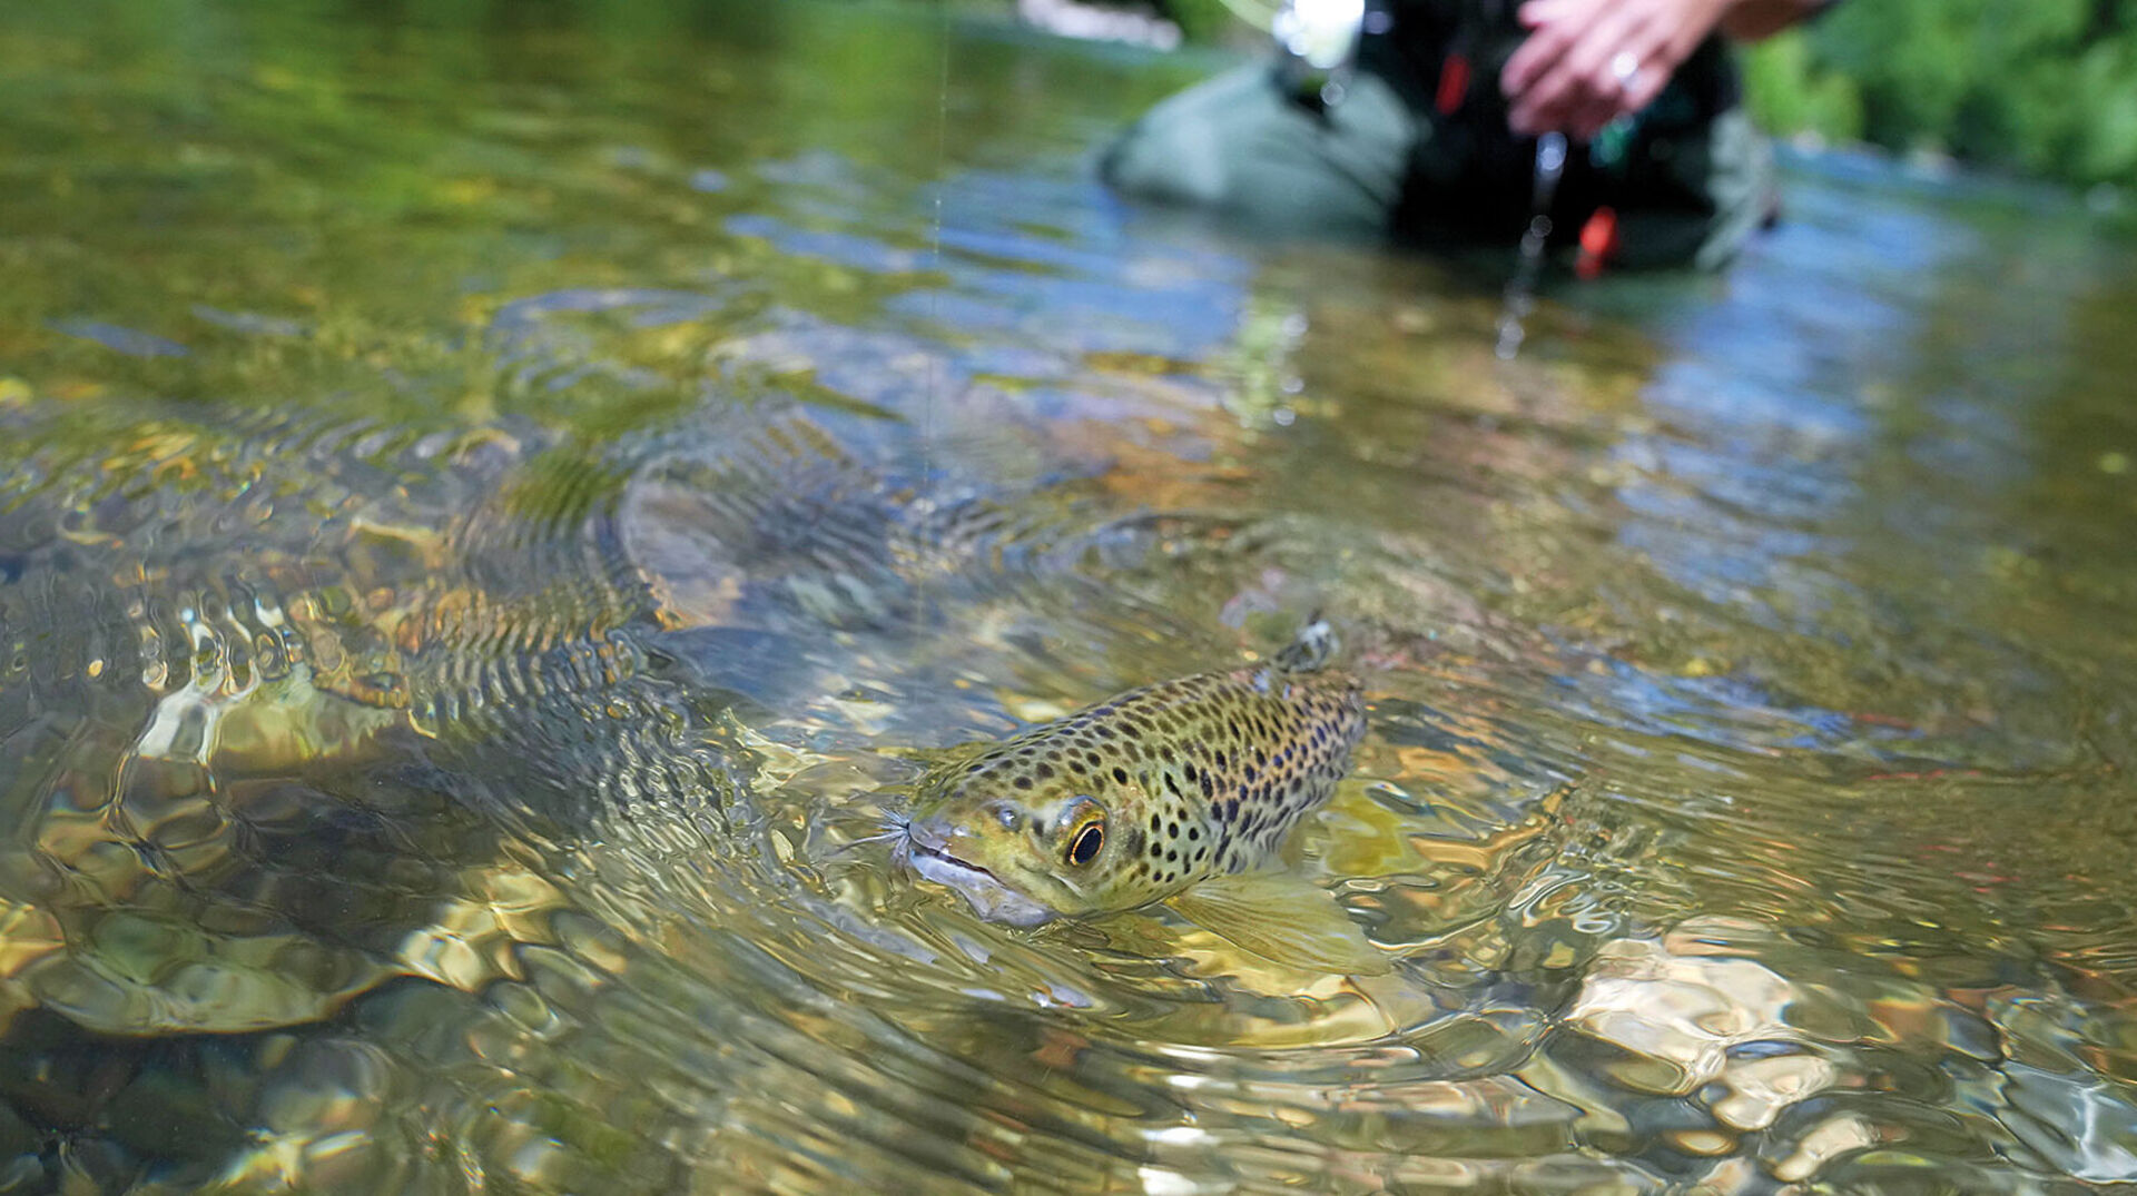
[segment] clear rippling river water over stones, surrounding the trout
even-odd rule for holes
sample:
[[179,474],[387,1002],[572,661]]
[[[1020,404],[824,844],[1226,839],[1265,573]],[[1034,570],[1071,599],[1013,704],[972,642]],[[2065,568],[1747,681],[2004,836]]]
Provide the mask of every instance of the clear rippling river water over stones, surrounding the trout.
[[[0,19],[0,1190],[2137,1179],[2131,254],[2056,201],[1806,162],[1502,363],[1489,280],[1094,188],[1195,64],[186,13]],[[1295,867],[1393,976],[851,846],[1314,607]]]

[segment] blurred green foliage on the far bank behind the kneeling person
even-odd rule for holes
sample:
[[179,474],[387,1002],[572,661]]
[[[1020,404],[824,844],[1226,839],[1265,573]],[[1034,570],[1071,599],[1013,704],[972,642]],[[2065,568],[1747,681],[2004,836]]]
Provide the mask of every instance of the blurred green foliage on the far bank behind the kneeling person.
[[[1165,0],[1233,41],[1222,0]],[[1849,0],[1748,53],[1765,128],[1949,154],[2073,184],[2137,184],[2137,0]]]

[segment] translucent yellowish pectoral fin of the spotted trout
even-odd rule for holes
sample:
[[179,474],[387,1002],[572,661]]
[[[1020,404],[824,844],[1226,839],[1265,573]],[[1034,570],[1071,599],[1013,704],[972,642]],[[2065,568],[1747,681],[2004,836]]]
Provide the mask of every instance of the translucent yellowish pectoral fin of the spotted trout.
[[1218,876],[1167,901],[1182,918],[1289,967],[1383,976],[1387,957],[1336,897],[1293,871]]

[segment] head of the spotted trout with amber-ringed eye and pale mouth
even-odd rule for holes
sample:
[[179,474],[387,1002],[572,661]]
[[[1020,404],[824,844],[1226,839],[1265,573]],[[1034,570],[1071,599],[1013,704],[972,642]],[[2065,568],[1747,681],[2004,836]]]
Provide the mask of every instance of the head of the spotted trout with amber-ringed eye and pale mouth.
[[962,893],[981,918],[1021,927],[1163,897],[1133,867],[1133,786],[1019,765],[983,758],[923,786],[898,846],[906,867]]

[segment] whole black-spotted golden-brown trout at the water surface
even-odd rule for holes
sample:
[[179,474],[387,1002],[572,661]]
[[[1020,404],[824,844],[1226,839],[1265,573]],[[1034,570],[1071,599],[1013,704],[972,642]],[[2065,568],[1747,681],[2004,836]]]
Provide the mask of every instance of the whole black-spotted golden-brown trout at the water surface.
[[1333,897],[1278,859],[1366,735],[1361,686],[1327,666],[1331,649],[1314,621],[1263,666],[1160,681],[960,752],[921,782],[895,854],[1000,923],[1165,901],[1280,963],[1387,972]]

